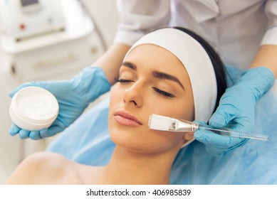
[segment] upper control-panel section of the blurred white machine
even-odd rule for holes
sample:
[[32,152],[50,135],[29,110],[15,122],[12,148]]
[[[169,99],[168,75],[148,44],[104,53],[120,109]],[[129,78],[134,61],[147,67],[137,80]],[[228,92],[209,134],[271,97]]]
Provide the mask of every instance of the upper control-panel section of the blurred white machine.
[[4,1],[2,6],[3,32],[17,42],[66,29],[61,1]]

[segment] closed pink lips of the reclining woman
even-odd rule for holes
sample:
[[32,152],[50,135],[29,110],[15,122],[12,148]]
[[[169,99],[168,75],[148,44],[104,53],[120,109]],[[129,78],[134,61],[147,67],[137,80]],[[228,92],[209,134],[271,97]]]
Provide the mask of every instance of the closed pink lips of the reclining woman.
[[118,111],[115,112],[115,121],[129,127],[138,127],[142,125],[142,122],[140,122],[139,119],[137,119],[135,116],[130,114],[129,112],[125,111]]

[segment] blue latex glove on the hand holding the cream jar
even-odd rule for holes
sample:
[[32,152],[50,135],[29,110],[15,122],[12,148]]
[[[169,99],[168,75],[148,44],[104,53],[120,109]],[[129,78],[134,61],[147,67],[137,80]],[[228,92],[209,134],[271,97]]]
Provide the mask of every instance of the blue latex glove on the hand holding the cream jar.
[[40,131],[28,131],[11,124],[9,132],[11,136],[19,134],[21,139],[42,139],[53,136],[72,124],[83,113],[90,102],[110,90],[110,83],[102,69],[87,67],[75,75],[72,80],[27,82],[16,87],[10,93],[13,97],[23,87],[37,86],[50,91],[58,100],[59,112],[57,119],[48,129]]

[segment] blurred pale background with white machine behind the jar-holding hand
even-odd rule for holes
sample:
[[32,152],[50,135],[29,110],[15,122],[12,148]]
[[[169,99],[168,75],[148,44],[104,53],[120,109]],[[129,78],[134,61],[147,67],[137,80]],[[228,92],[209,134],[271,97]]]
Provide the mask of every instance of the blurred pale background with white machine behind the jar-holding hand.
[[55,139],[9,136],[9,92],[23,82],[69,79],[93,63],[113,43],[118,15],[114,0],[0,1],[0,183],[4,183],[23,158],[46,149]]

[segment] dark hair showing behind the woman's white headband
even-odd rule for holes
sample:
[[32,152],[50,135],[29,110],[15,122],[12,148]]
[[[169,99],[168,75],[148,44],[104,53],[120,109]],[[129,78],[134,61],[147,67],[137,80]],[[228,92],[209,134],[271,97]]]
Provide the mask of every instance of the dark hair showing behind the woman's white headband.
[[181,27],[172,27],[172,28],[178,29],[179,31],[183,31],[184,33],[187,33],[189,36],[192,36],[192,38],[198,41],[208,53],[209,58],[211,59],[211,63],[214,66],[214,73],[216,75],[217,97],[216,97],[216,106],[214,108],[214,111],[215,111],[215,109],[219,105],[219,100],[221,96],[224,94],[226,90],[226,74],[224,70],[224,63],[221,61],[221,58],[216,53],[214,48],[212,48],[211,45],[206,40],[204,40],[204,38],[199,36],[197,33],[194,33],[194,31],[190,31],[187,28],[181,28]]

